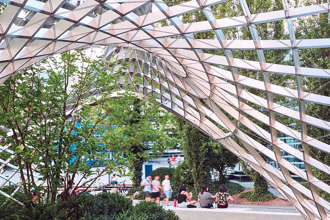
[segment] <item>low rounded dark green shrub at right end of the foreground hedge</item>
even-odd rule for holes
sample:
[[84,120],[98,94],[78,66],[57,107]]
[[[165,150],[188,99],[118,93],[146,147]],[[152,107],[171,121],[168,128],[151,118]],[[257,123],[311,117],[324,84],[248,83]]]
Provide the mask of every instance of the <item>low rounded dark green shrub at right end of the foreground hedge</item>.
[[172,210],[165,210],[155,202],[141,201],[133,206],[132,211],[125,211],[118,215],[116,220],[180,220]]

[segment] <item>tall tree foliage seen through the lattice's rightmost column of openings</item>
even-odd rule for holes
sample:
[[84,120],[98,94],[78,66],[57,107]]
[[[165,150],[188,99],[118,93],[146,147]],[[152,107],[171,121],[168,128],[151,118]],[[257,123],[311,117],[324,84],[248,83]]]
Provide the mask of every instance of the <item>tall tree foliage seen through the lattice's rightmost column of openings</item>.
[[[327,3],[327,1],[316,0],[316,4]],[[306,0],[296,0],[294,4],[297,6],[314,5],[314,3]],[[330,23],[328,13],[311,15],[308,17],[297,18],[294,20],[294,28],[297,39],[324,39],[330,38]],[[330,69],[330,49],[329,48],[309,48],[299,49],[300,64],[302,67],[313,67],[324,69],[328,73]],[[328,73],[329,74],[329,73]],[[330,96],[329,79],[326,78],[303,78],[304,90],[323,96]],[[329,107],[319,105],[316,103],[305,102],[306,114],[316,118],[329,121],[330,112]],[[324,124],[328,129],[327,125]],[[300,123],[296,123],[296,129],[300,129]],[[314,126],[307,126],[308,135],[326,144],[330,144],[329,131]],[[324,153],[310,146],[311,157],[321,161],[326,165],[330,165],[330,156],[328,153]],[[324,181],[330,185],[330,176],[320,170],[313,169],[313,174],[316,178]],[[307,185],[307,184],[306,184]],[[308,187],[308,186],[307,186]],[[327,201],[330,201],[328,193],[318,190],[320,196]]]

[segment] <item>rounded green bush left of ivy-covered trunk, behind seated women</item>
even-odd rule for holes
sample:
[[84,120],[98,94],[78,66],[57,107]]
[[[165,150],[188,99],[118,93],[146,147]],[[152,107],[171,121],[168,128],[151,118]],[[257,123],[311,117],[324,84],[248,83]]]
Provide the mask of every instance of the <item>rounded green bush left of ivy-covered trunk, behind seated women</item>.
[[192,168],[190,165],[183,161],[177,168],[175,168],[173,177],[171,179],[171,186],[180,186],[181,184],[186,184],[189,186],[194,185],[194,179],[192,177]]

